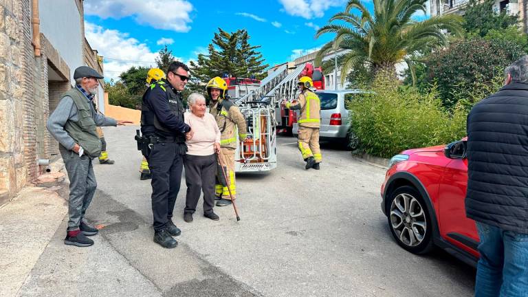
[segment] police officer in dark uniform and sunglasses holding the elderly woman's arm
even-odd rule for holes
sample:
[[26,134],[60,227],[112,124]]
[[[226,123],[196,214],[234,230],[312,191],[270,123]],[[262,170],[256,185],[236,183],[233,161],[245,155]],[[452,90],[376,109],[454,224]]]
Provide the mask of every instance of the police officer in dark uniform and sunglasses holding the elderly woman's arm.
[[180,93],[188,82],[188,71],[184,63],[170,63],[167,78],[146,90],[141,109],[141,131],[149,148],[143,152],[152,174],[154,242],[164,248],[175,248],[178,243],[172,236],[181,234],[172,217],[187,151],[185,137],[192,135],[184,122]]

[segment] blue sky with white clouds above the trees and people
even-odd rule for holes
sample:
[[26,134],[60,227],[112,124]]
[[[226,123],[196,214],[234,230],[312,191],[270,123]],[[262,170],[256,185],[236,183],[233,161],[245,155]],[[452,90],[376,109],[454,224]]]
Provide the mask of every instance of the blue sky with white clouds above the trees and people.
[[[89,0],[85,1],[85,33],[91,47],[104,56],[104,76],[115,78],[132,65],[153,66],[168,45],[188,63],[207,47],[217,28],[248,30],[252,45],[270,66],[292,61],[331,40],[314,39],[316,30],[345,0]],[[371,6],[369,1],[366,5]]]

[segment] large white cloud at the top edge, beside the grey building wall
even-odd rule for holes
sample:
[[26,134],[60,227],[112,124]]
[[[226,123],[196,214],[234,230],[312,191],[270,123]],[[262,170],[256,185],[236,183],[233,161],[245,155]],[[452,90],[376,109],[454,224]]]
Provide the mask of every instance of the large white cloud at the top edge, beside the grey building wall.
[[85,1],[85,13],[102,19],[134,17],[136,23],[156,29],[188,32],[192,4],[186,0],[90,0]]

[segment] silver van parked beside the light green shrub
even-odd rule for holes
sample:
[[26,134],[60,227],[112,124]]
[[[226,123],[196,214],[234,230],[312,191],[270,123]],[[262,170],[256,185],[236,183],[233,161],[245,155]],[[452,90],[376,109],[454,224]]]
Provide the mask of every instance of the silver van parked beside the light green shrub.
[[[319,130],[319,140],[341,142],[349,146],[349,111],[347,106],[355,96],[364,94],[367,91],[360,89],[346,89],[340,91],[321,90],[316,91],[321,102],[321,128]],[[295,123],[292,133],[298,135],[298,124]]]

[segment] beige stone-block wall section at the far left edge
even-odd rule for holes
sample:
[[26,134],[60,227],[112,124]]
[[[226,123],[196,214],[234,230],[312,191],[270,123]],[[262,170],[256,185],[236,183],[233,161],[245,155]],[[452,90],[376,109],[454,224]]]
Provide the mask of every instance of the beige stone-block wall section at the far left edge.
[[25,185],[24,148],[34,142],[25,116],[31,97],[25,90],[34,82],[30,11],[29,0],[0,0],[0,204]]

